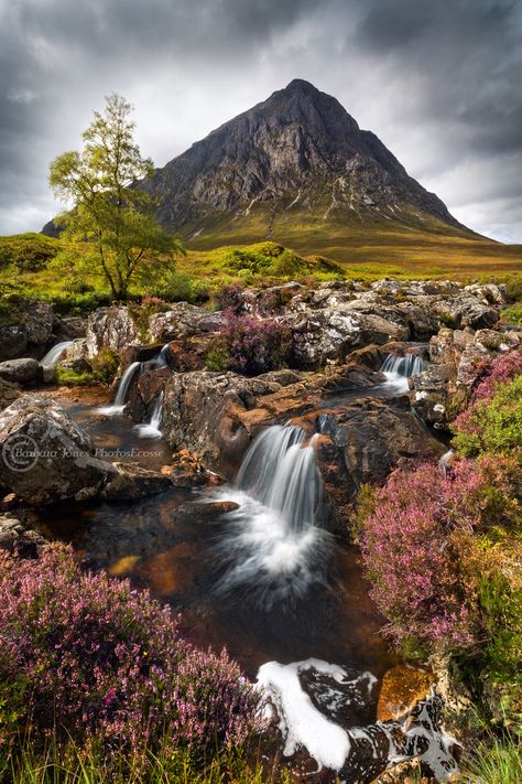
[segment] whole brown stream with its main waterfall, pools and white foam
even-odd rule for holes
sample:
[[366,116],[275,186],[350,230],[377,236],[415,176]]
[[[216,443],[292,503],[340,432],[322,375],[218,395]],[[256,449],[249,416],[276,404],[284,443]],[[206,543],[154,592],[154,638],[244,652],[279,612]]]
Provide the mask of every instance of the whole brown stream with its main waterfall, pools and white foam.
[[[371,389],[336,391],[324,406],[407,388],[396,367],[387,378]],[[99,457],[154,469],[170,463],[157,410],[154,427],[144,427],[93,390],[59,402],[90,432]],[[350,784],[418,755],[415,744],[427,737],[425,759],[446,780],[456,767],[435,704],[426,702],[428,718],[421,716],[418,734],[414,724],[401,748],[392,727],[376,721],[382,676],[400,659],[380,634],[384,619],[369,598],[359,551],[320,526],[313,440],[295,426],[274,426],[253,442],[235,485],[44,507],[37,525],[48,538],[70,543],[93,568],[129,577],[183,612],[182,629],[196,645],[225,646],[270,696],[284,755],[298,759],[306,749],[317,775],[336,771]]]

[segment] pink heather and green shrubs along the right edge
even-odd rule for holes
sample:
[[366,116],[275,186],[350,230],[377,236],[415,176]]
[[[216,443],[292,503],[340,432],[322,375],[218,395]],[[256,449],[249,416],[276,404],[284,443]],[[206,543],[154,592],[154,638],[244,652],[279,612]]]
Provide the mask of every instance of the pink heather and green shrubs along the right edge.
[[485,366],[454,425],[461,457],[449,475],[432,464],[399,470],[365,490],[357,519],[395,643],[421,656],[449,653],[478,702],[513,727],[522,717],[521,382],[516,352]]

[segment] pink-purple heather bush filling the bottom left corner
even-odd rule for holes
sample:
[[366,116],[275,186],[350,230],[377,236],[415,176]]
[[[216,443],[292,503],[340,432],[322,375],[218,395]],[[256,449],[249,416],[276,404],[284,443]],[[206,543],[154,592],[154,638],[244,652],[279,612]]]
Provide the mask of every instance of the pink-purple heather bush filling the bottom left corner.
[[81,572],[68,548],[4,558],[0,598],[4,764],[28,732],[137,770],[165,737],[203,760],[252,732],[255,699],[227,654],[194,648],[146,591]]

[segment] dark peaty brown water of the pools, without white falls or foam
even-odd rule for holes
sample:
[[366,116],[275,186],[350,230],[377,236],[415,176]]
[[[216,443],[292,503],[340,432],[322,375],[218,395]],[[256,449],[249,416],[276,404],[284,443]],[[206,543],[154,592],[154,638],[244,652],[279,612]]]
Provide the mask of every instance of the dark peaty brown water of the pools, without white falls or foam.
[[[98,449],[107,454],[134,450],[133,459],[148,466],[170,462],[165,442],[139,438],[122,416],[98,415],[96,406],[104,401],[91,393],[86,397],[59,402],[89,430]],[[155,457],[143,459],[145,452]],[[222,594],[216,546],[227,529],[227,513],[210,501],[202,490],[172,488],[129,504],[44,509],[39,524],[95,568],[130,577],[183,610],[187,635],[204,647],[226,646],[250,677],[271,659],[324,658],[377,676],[394,663],[379,635],[383,619],[368,595],[358,552],[340,540],[333,539],[325,556],[327,580],[302,598],[290,595],[268,610],[254,599],[255,586]]]

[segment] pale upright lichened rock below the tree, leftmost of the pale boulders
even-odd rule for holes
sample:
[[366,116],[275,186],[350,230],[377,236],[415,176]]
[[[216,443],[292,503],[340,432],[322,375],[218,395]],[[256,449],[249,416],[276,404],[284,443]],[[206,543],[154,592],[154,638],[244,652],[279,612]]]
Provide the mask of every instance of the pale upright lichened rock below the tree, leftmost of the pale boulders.
[[139,330],[129,313],[121,305],[98,308],[87,321],[87,356],[96,356],[102,348],[119,352],[131,344],[142,344]]

